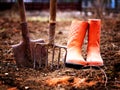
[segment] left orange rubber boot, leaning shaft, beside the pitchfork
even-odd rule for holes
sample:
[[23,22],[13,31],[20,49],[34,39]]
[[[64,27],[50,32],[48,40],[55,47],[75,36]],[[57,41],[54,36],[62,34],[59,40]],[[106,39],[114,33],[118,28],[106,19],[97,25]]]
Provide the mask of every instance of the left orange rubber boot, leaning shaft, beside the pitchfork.
[[66,67],[79,68],[87,64],[81,54],[81,48],[87,28],[87,21],[72,21],[67,42]]

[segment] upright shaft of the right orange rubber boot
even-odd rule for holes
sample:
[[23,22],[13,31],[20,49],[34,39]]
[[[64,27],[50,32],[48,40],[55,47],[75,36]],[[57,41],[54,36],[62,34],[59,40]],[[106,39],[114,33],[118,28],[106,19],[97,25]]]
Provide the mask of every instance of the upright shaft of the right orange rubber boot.
[[88,30],[88,51],[100,52],[100,33],[101,33],[101,20],[89,19]]

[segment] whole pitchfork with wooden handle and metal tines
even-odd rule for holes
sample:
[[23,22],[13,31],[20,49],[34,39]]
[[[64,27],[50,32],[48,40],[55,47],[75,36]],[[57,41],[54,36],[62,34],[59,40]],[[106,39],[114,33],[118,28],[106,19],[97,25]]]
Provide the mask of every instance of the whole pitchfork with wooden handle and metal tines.
[[[57,7],[57,0],[50,0],[50,20],[49,20],[49,42],[48,43],[37,43],[35,45],[35,51],[38,47],[46,48],[47,53],[49,53],[51,51],[52,55],[52,59],[51,59],[51,64],[49,58],[47,57],[47,59],[45,60],[45,65],[42,65],[42,58],[44,58],[44,56],[41,56],[42,54],[40,54],[39,58],[34,57],[34,68],[36,68],[36,61],[38,61],[39,59],[39,68],[42,68],[42,66],[44,67],[48,67],[49,64],[51,66],[51,68],[53,69],[53,67],[55,66],[55,62],[56,62],[56,67],[59,68],[60,67],[60,59],[61,59],[61,53],[62,53],[62,49],[65,51],[64,53],[64,57],[63,57],[63,61],[65,63],[66,60],[66,55],[67,55],[67,48],[65,46],[60,46],[60,45],[56,45],[54,43],[54,39],[55,39],[55,27],[56,27],[56,7]],[[42,49],[40,49],[42,50]],[[58,51],[57,54],[57,60],[55,60],[55,53]],[[42,51],[41,51],[42,53]],[[34,53],[34,56],[36,55],[36,53]],[[48,55],[49,56],[49,55]]]

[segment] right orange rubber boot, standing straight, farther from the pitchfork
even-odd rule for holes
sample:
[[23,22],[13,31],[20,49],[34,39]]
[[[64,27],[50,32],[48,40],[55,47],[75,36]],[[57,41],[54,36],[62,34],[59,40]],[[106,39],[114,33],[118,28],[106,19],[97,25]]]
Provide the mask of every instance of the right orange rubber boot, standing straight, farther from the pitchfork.
[[87,62],[89,66],[103,66],[103,60],[100,55],[100,31],[101,20],[90,19],[88,21],[88,46]]

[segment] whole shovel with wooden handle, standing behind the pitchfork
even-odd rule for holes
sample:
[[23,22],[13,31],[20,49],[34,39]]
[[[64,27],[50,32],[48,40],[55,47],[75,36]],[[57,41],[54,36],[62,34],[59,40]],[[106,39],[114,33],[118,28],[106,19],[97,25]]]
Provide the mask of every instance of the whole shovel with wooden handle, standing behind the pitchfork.
[[[44,43],[44,40],[30,40],[23,0],[18,0],[18,6],[21,18],[22,41],[12,46],[16,64],[18,67],[29,68],[33,68],[34,64],[36,64],[36,67],[38,67],[39,61],[34,61],[34,58],[39,57],[38,55],[40,54],[42,57],[44,56],[44,58],[41,58],[41,64],[44,65],[47,59],[46,49],[44,47],[37,47],[36,50],[34,50],[35,44]],[[34,55],[34,53],[36,53],[36,55]]]

